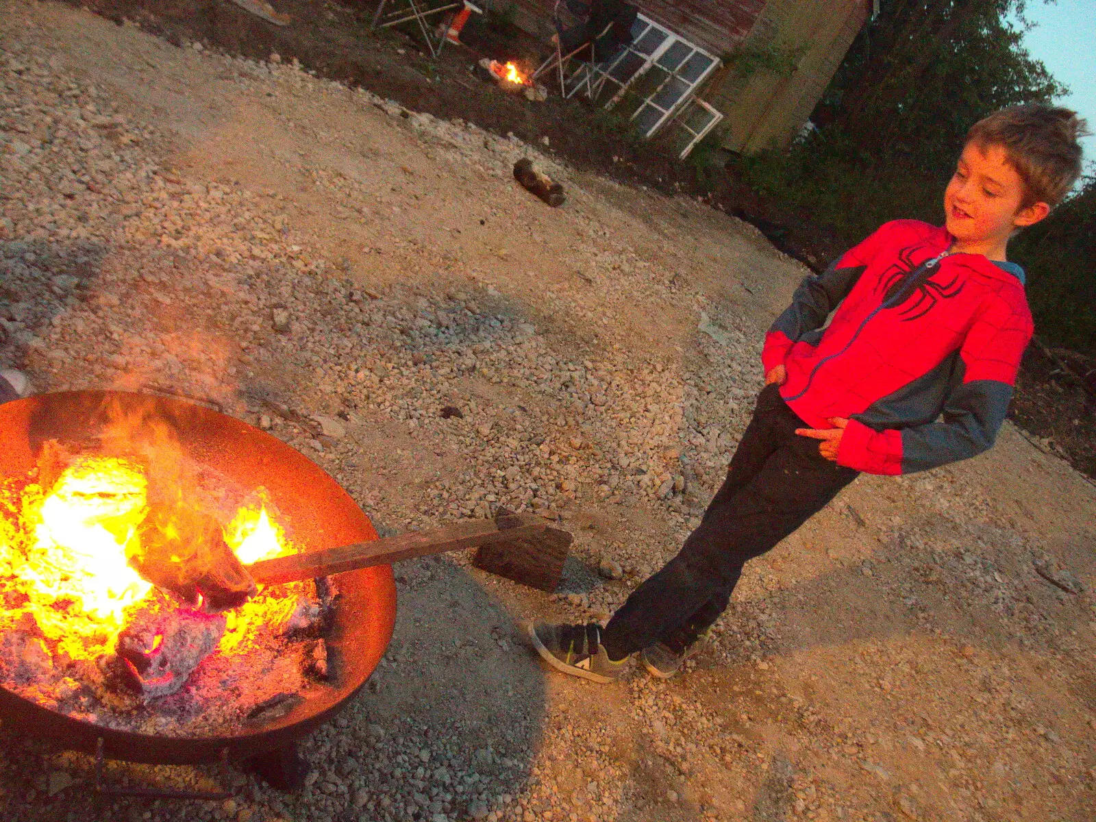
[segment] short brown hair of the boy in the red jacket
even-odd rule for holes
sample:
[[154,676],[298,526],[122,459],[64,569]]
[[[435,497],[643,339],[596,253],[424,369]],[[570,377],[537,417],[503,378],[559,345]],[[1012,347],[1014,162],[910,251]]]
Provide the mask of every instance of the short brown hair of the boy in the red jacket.
[[980,119],[967,142],[1001,146],[1024,182],[1023,206],[1055,206],[1081,176],[1080,137],[1085,121],[1069,109],[1030,103],[1002,109]]

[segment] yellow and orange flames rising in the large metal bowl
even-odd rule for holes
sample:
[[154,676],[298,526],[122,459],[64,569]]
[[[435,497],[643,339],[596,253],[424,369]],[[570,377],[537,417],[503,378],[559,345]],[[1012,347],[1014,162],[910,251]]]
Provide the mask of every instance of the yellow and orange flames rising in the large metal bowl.
[[[114,652],[138,613],[174,607],[134,568],[146,567],[153,534],[178,532],[165,544],[178,543],[179,556],[163,559],[181,569],[202,555],[198,544],[210,538],[203,528],[220,532],[244,564],[296,550],[262,489],[248,489],[243,504],[227,509],[221,494],[229,489],[207,490],[209,477],[152,404],[110,412],[96,456],[52,443],[36,481],[0,479],[0,636],[33,638],[59,665],[55,672]],[[306,587],[270,586],[230,612],[218,652],[260,647],[261,629],[288,619]],[[153,649],[161,641],[153,639]]]

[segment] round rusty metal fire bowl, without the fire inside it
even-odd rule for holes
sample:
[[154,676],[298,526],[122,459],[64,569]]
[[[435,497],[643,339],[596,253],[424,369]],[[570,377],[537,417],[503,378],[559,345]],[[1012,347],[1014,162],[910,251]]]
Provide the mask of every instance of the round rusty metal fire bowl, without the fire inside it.
[[[369,517],[319,466],[282,441],[232,416],[178,399],[121,391],[65,391],[0,406],[0,481],[25,477],[49,439],[87,444],[109,414],[148,414],[167,423],[185,455],[216,468],[243,488],[264,487],[293,538],[310,549],[377,538]],[[390,566],[339,576],[342,600],[327,637],[334,676],[302,694],[305,700],[267,722],[241,722],[225,737],[157,737],[73,719],[0,687],[0,715],[28,732],[53,737],[65,747],[94,754],[100,739],[113,760],[184,765],[252,756],[288,747],[331,719],[365,684],[392,636],[396,585]]]

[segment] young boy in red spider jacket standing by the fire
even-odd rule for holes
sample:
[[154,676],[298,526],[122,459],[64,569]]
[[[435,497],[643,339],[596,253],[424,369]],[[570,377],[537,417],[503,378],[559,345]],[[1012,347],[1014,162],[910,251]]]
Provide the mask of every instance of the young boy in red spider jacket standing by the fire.
[[765,338],[765,388],[699,527],[605,628],[530,625],[540,657],[607,683],[639,652],[651,674],[673,676],[743,564],[857,473],[921,471],[993,445],[1032,332],[1006,246],[1070,191],[1083,130],[1074,112],[1044,105],[986,117],[944,194],[944,227],[888,222],[807,277]]

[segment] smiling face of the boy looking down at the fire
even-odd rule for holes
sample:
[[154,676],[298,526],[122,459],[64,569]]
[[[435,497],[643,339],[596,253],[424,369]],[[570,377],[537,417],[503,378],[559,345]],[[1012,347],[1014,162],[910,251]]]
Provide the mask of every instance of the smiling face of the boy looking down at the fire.
[[1024,181],[1001,146],[968,142],[944,192],[947,229],[956,250],[1004,259],[1013,231],[1047,216],[1036,203],[1021,208]]

